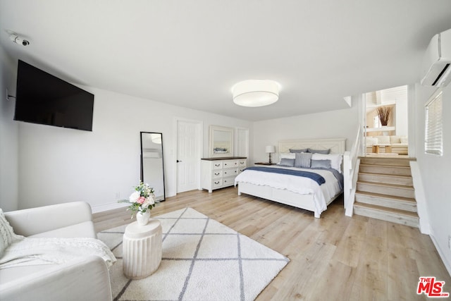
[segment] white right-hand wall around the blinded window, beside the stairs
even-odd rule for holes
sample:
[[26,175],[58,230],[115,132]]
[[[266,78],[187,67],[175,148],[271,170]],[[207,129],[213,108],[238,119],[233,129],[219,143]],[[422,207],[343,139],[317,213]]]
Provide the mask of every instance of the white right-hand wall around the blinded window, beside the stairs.
[[426,204],[428,206],[431,238],[448,272],[451,274],[451,85],[443,89],[443,156],[424,154],[424,105],[435,88],[416,85],[416,161],[421,171]]

